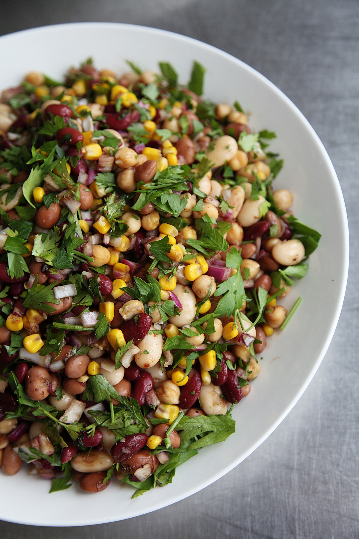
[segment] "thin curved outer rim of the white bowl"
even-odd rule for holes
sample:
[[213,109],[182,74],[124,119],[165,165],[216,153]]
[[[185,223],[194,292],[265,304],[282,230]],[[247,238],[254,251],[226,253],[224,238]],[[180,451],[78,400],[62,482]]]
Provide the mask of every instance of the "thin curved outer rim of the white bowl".
[[[325,356],[325,354],[326,354],[326,352],[328,350],[329,344],[332,341],[335,328],[336,328],[337,323],[339,321],[339,316],[341,314],[341,309],[342,309],[342,305],[343,305],[343,301],[344,301],[344,295],[346,293],[347,279],[348,279],[348,269],[349,269],[349,227],[348,227],[348,217],[347,217],[346,206],[345,206],[345,203],[344,203],[344,197],[343,197],[343,193],[342,193],[342,190],[341,190],[339,179],[338,179],[338,177],[336,175],[334,165],[333,165],[332,161],[330,160],[330,157],[329,157],[329,155],[327,153],[327,150],[325,149],[323,143],[321,142],[318,134],[316,134],[314,128],[311,126],[311,124],[305,118],[304,114],[302,114],[302,112],[299,110],[299,108],[296,105],[294,105],[294,103],[284,94],[284,92],[282,92],[276,85],[274,85],[273,82],[271,82],[263,74],[259,73],[253,67],[251,67],[248,64],[244,63],[242,60],[236,58],[232,54],[229,54],[229,53],[227,53],[225,51],[222,51],[221,49],[218,49],[217,47],[215,47],[213,45],[209,45],[208,43],[202,42],[202,41],[200,41],[198,39],[194,39],[192,37],[184,36],[184,35],[176,33],[176,32],[157,29],[157,28],[153,28],[153,27],[150,27],[150,26],[143,26],[143,25],[129,24],[129,23],[113,23],[113,22],[74,22],[74,23],[44,25],[44,26],[34,27],[34,28],[30,28],[30,29],[25,29],[25,30],[19,30],[19,31],[16,31],[16,32],[11,32],[9,34],[5,34],[4,36],[0,36],[0,44],[3,44],[4,42],[6,42],[6,40],[13,39],[14,37],[16,37],[18,35],[29,34],[29,36],[31,36],[31,34],[38,34],[38,33],[41,33],[41,32],[46,33],[48,31],[51,31],[51,29],[54,29],[54,30],[55,29],[60,29],[60,28],[61,29],[65,29],[65,28],[74,29],[75,27],[86,27],[86,26],[87,27],[92,27],[92,28],[96,27],[97,29],[99,29],[99,28],[103,29],[103,28],[109,28],[109,27],[115,27],[117,29],[121,29],[121,28],[129,28],[129,27],[131,27],[131,28],[135,28],[139,32],[161,34],[163,36],[168,36],[168,38],[170,38],[170,39],[177,39],[178,43],[180,43],[180,42],[193,43],[196,47],[202,47],[202,49],[208,50],[208,51],[213,52],[213,53],[215,53],[215,54],[217,54],[219,56],[222,56],[224,59],[232,61],[233,63],[240,66],[243,70],[249,72],[253,77],[255,77],[258,81],[260,81],[261,84],[263,84],[266,87],[270,88],[274,93],[276,93],[279,96],[279,98],[281,100],[285,101],[286,105],[292,109],[292,111],[295,113],[295,115],[297,115],[298,119],[304,124],[304,126],[307,129],[308,135],[312,136],[312,140],[315,143],[316,149],[320,152],[320,155],[321,155],[323,161],[327,165],[330,176],[331,176],[331,179],[333,180],[333,186],[335,188],[335,193],[336,193],[336,196],[337,196],[337,202],[339,203],[339,211],[340,211],[340,219],[341,219],[340,224],[342,225],[342,230],[343,230],[343,238],[342,238],[343,245],[342,246],[343,246],[344,260],[343,260],[343,264],[342,264],[342,268],[343,268],[343,270],[342,270],[342,278],[341,278],[340,292],[339,292],[339,294],[337,296],[335,314],[333,316],[332,323],[327,328],[326,337],[325,337],[325,340],[323,342],[320,353],[319,353],[318,357],[316,358],[316,361],[313,363],[312,368],[310,370],[308,370],[308,374],[306,376],[306,379],[305,379],[304,383],[302,383],[302,385],[297,390],[297,392],[294,393],[294,395],[293,395],[293,397],[291,399],[291,402],[286,406],[286,408],[280,414],[280,416],[277,418],[277,420],[274,421],[272,424],[270,424],[268,429],[265,430],[265,432],[262,434],[262,436],[259,439],[257,439],[256,442],[254,444],[252,444],[248,448],[247,451],[242,453],[240,455],[240,457],[238,457],[237,459],[234,459],[233,461],[229,462],[229,464],[227,466],[222,467],[219,472],[212,473],[208,480],[202,481],[199,485],[193,485],[192,488],[188,489],[188,492],[186,493],[186,496],[183,496],[182,494],[173,495],[173,496],[170,497],[170,499],[163,499],[163,500],[160,500],[160,501],[158,501],[156,503],[153,503],[153,505],[151,505],[151,507],[149,507],[149,510],[146,511],[146,512],[143,512],[142,510],[139,510],[138,512],[133,511],[132,514],[130,514],[129,516],[125,516],[124,519],[122,519],[122,518],[120,519],[120,520],[126,520],[126,519],[129,519],[129,518],[135,517],[135,516],[140,516],[140,515],[143,515],[143,514],[147,514],[147,513],[153,512],[155,510],[158,510],[158,509],[167,507],[169,505],[172,505],[175,502],[183,500],[183,499],[185,499],[185,498],[199,492],[203,488],[211,485],[212,483],[214,483],[215,481],[220,479],[222,476],[226,475],[233,468],[235,468],[238,464],[240,464],[240,462],[242,462],[244,459],[246,459],[252,452],[254,452],[256,450],[256,448],[259,447],[259,445],[261,445],[263,443],[263,441],[266,438],[268,438],[270,436],[270,434],[277,428],[277,426],[281,423],[281,421],[283,421],[283,419],[287,416],[287,414],[292,410],[294,405],[297,404],[299,398],[302,396],[304,391],[307,389],[307,386],[309,385],[309,383],[311,382],[313,376],[315,375],[315,372],[318,370],[319,365],[322,362],[323,357]],[[37,522],[36,518],[34,520],[32,520],[32,521],[30,521],[30,519],[26,519],[26,518],[25,519],[19,518],[16,521],[15,520],[10,520],[8,517],[6,517],[6,515],[0,515],[0,518],[3,519],[4,521],[16,522],[16,523],[19,523],[19,524],[30,524],[32,526],[49,526],[48,523]],[[116,522],[116,521],[118,521],[118,515],[116,515],[113,520],[111,519],[111,520],[108,520],[108,521],[105,521],[105,522],[107,523],[107,522]],[[70,524],[66,524],[64,522],[58,521],[58,522],[52,523],[52,526],[59,526],[59,527],[65,527],[65,526],[89,526],[89,525],[95,525],[95,524],[100,524],[100,523],[104,523],[104,521],[101,520],[101,519],[98,520],[98,517],[96,518],[96,513],[95,513],[95,514],[93,514],[93,516],[91,516],[91,514],[86,515],[86,521],[82,520],[82,521],[79,521],[78,523],[70,523]]]

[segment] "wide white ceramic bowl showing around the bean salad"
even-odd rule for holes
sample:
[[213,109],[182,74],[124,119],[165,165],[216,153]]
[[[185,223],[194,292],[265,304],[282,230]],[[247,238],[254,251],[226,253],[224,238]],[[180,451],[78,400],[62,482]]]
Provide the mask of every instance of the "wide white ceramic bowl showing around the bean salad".
[[[339,181],[325,148],[304,116],[276,86],[233,56],[210,45],[163,30],[112,23],[46,26],[0,38],[0,88],[17,85],[25,73],[41,71],[61,80],[69,65],[93,57],[97,67],[128,71],[125,60],[158,70],[169,61],[179,80],[189,80],[193,60],[207,68],[205,96],[238,100],[255,130],[274,130],[272,151],[285,158],[276,188],[295,194],[294,215],[323,237],[310,258],[307,276],[284,302],[303,301],[283,334],[269,341],[250,396],[233,410],[236,433],[177,469],[171,485],[131,500],[133,489],[116,479],[89,496],[78,485],[48,494],[50,482],[0,475],[0,519],[40,526],[112,522],[165,507],[210,485],[259,446],[292,409],[318,369],[339,319],[347,283],[349,236]],[[284,66],[285,69],[285,66]],[[275,361],[274,361],[275,360]],[[16,500],[16,503],[15,503]]]

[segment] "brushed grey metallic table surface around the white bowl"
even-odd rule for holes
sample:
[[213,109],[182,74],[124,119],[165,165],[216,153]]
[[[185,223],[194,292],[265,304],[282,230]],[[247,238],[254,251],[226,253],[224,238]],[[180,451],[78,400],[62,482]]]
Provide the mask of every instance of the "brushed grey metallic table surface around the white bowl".
[[14,0],[2,9],[0,34],[82,20],[186,34],[240,58],[283,90],[319,134],[339,176],[351,230],[351,269],[339,324],[313,381],[270,438],[232,472],[176,505],[136,519],[66,530],[1,522],[2,539],[64,534],[68,539],[359,537],[359,246],[354,232],[359,216],[359,3]]

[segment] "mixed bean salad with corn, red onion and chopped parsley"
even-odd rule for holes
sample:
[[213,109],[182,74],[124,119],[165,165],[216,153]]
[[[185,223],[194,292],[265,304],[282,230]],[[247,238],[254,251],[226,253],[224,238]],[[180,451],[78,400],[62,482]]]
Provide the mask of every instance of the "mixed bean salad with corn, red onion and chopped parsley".
[[0,464],[50,492],[135,497],[234,433],[320,239],[273,189],[276,134],[204,99],[203,66],[128,63],[0,99]]

